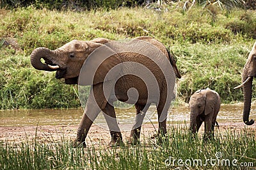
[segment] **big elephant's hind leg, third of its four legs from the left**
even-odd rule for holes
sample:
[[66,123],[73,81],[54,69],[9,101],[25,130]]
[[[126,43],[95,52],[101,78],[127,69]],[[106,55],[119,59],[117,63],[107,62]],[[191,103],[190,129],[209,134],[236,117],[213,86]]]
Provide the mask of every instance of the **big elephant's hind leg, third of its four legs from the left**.
[[136,108],[135,121],[136,122],[134,123],[132,130],[131,130],[130,139],[128,141],[129,144],[140,143],[141,125],[143,123],[143,119],[146,115],[146,112],[147,112],[149,106],[150,106],[150,104],[147,104],[147,105],[135,104],[135,108]]

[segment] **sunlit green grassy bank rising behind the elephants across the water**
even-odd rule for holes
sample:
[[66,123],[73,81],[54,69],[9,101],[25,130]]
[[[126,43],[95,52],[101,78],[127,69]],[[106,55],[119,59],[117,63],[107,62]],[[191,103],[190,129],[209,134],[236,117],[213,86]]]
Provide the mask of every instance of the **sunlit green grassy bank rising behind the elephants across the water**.
[[0,109],[79,107],[77,86],[65,85],[54,73],[31,66],[29,55],[36,47],[56,49],[73,39],[120,40],[143,35],[170,45],[177,56],[182,73],[177,81],[179,102],[188,102],[193,92],[207,87],[220,93],[223,103],[242,101],[241,90],[233,88],[241,82],[243,65],[255,42],[255,15],[255,11],[214,6],[189,12],[180,8],[166,12],[1,9]]

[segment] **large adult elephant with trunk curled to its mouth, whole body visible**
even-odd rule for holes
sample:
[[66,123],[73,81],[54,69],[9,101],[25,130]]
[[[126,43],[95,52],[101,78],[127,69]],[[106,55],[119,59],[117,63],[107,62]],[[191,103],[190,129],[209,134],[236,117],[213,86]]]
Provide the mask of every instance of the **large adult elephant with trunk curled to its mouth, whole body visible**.
[[85,146],[85,137],[100,111],[108,123],[111,144],[122,143],[113,107],[116,100],[135,104],[132,143],[138,142],[144,113],[152,103],[157,105],[158,133],[166,134],[166,116],[175,98],[175,75],[180,78],[180,73],[170,52],[154,38],[142,36],[129,42],[96,38],[72,40],[56,50],[40,47],[33,50],[31,65],[37,70],[56,71],[56,78],[65,79],[66,84],[92,85],[75,146]]

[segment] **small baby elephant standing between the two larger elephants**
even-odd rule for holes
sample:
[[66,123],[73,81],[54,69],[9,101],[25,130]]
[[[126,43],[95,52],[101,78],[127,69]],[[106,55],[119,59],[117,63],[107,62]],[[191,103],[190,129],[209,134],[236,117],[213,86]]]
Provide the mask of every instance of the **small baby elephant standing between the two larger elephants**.
[[191,132],[198,132],[204,121],[204,139],[213,139],[214,125],[220,111],[220,95],[209,88],[200,89],[190,97],[189,108]]

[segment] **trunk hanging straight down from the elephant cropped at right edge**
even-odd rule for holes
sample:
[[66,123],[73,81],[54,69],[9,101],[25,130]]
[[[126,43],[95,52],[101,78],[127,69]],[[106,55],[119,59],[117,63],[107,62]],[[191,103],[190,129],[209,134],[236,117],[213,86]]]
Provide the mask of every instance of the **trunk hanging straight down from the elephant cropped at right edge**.
[[243,121],[246,125],[252,125],[254,120],[249,121],[249,114],[252,102],[252,81],[253,77],[243,86],[244,93],[244,110],[243,110]]

